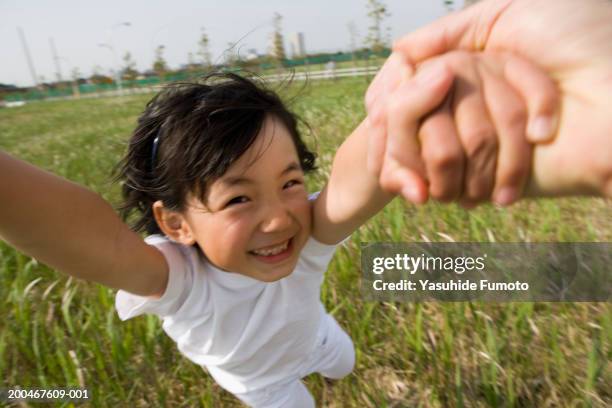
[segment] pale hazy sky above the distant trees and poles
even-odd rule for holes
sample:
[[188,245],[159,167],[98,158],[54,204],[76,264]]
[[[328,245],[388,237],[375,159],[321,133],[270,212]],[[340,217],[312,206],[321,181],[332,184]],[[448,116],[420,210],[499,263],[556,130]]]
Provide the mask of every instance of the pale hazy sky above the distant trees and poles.
[[[390,15],[383,26],[397,38],[443,16],[443,0],[382,0]],[[457,1],[460,6],[462,1]],[[0,83],[34,83],[20,40],[20,27],[36,72],[45,81],[56,79],[51,38],[63,79],[76,68],[90,76],[99,66],[110,74],[130,52],[136,69],[153,65],[155,48],[164,45],[171,69],[197,52],[202,28],[210,39],[213,61],[222,62],[228,43],[238,43],[241,54],[255,49],[265,54],[273,31],[273,16],[283,16],[285,50],[288,37],[304,35],[308,53],[350,48],[348,24],[357,27],[363,44],[369,19],[366,0],[0,0]],[[125,24],[129,23],[129,25]],[[110,44],[111,47],[99,44]]]

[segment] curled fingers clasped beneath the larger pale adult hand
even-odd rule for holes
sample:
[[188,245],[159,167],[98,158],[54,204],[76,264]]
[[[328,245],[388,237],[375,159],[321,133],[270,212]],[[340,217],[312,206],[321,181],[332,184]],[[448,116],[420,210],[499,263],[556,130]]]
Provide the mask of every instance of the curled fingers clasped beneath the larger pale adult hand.
[[[428,195],[466,207],[491,197],[504,205],[517,200],[530,172],[528,116],[555,115],[555,83],[510,53],[455,51],[418,71],[421,81],[412,81],[412,65],[393,54],[366,96],[374,129],[368,164],[382,188],[414,203]],[[414,101],[406,88],[435,87],[448,74],[455,80],[444,103],[415,128],[407,126]],[[549,137],[541,128],[534,133]]]

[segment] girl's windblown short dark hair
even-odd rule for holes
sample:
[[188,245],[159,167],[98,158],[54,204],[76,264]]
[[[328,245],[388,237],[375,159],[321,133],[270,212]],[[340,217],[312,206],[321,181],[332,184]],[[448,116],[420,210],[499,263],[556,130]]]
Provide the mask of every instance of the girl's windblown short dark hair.
[[247,151],[270,115],[289,131],[302,170],[316,168],[315,155],[298,132],[297,117],[276,93],[257,82],[213,73],[198,82],[170,84],[147,103],[127,154],[115,168],[123,195],[117,210],[126,221],[136,212],[133,230],[161,233],[152,210],[157,200],[182,211],[187,193],[203,199],[207,185]]

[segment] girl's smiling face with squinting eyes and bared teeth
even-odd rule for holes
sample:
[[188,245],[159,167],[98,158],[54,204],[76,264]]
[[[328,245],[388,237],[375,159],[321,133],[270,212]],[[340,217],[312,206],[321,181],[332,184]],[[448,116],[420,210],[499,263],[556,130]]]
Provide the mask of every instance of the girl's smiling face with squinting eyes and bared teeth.
[[310,235],[311,207],[288,130],[267,118],[253,145],[183,213],[220,269],[272,282],[289,275]]

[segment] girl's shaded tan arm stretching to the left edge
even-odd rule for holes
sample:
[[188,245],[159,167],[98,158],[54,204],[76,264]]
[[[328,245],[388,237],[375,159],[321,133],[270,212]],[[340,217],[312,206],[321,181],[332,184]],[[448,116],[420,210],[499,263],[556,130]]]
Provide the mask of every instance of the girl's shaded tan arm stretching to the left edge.
[[77,278],[160,296],[168,266],[98,194],[0,151],[0,237]]

